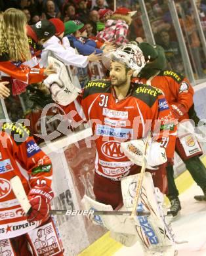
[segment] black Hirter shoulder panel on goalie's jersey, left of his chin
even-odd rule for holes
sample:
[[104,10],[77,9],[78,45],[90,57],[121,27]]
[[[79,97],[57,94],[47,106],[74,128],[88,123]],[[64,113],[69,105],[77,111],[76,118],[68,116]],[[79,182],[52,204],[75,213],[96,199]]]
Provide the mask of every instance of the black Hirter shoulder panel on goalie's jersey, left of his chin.
[[108,79],[89,81],[84,87],[83,99],[94,93],[111,93],[111,81]]

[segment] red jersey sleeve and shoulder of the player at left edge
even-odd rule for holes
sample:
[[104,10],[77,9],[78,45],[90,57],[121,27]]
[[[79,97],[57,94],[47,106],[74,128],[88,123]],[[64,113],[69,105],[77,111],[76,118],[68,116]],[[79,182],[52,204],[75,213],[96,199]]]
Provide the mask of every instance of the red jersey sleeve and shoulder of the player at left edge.
[[[7,130],[9,123],[3,125]],[[10,125],[13,158],[30,175],[31,188],[38,184],[52,183],[52,163],[30,135],[30,131],[21,123]]]

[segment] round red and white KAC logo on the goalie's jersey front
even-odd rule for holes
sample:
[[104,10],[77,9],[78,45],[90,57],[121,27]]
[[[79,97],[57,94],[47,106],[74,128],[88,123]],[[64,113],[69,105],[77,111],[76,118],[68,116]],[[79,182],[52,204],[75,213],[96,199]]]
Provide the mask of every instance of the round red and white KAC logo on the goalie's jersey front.
[[108,158],[121,159],[125,157],[125,154],[121,152],[120,142],[115,140],[104,142],[101,150],[104,156],[107,156]]

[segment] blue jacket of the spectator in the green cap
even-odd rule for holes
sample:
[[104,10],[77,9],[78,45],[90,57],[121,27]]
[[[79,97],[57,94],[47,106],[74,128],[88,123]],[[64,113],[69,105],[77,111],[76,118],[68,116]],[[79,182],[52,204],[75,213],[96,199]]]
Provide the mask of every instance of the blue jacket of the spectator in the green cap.
[[96,48],[96,42],[92,39],[87,39],[85,43],[82,43],[79,39],[73,35],[66,35],[70,41],[70,45],[76,48],[79,54],[90,55],[96,51],[96,54],[102,53],[102,50]]

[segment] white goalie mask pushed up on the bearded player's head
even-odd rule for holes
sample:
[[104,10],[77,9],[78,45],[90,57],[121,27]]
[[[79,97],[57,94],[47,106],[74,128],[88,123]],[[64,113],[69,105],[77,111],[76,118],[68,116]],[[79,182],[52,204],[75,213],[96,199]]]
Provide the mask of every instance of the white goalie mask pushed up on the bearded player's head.
[[134,70],[133,76],[139,74],[145,66],[144,55],[137,45],[128,44],[119,47],[116,51],[106,53],[102,56],[102,63],[110,70],[111,61],[119,62],[127,68]]

